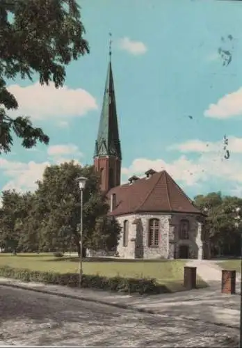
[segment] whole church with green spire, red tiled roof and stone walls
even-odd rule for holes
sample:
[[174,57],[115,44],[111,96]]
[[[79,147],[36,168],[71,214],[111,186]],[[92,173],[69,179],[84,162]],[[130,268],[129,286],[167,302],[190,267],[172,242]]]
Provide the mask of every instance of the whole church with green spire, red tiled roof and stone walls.
[[121,163],[110,52],[94,165],[108,198],[109,215],[122,227],[118,255],[129,259],[202,259],[203,215],[191,199],[166,171],[152,168],[147,168],[143,177],[133,175],[129,182],[120,184]]

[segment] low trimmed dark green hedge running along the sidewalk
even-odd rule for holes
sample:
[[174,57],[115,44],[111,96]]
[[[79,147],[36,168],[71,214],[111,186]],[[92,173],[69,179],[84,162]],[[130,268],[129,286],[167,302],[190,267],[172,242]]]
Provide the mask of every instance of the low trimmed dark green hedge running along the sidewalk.
[[[57,272],[31,271],[9,266],[0,267],[0,276],[5,278],[19,279],[23,282],[37,282],[52,285],[66,285],[69,287],[79,286],[79,274]],[[168,292],[165,286],[160,286],[155,279],[147,278],[122,278],[116,276],[107,278],[104,276],[92,276],[83,274],[82,287],[89,287],[115,292],[128,292],[138,294],[158,294]]]

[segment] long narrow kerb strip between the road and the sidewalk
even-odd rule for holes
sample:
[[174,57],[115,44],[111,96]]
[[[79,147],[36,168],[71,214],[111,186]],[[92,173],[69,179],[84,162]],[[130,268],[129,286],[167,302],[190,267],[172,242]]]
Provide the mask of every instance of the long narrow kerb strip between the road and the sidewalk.
[[[160,313],[159,310],[152,310],[152,309],[147,309],[147,308],[138,308],[136,306],[132,306],[132,305],[125,304],[125,303],[115,303],[115,302],[110,302],[110,301],[102,301],[99,299],[93,299],[93,298],[91,299],[91,298],[84,297],[84,296],[64,294],[63,292],[54,292],[51,290],[35,289],[33,287],[26,287],[24,285],[19,285],[19,284],[1,283],[1,281],[0,281],[0,286],[13,287],[13,288],[18,288],[18,289],[22,289],[22,290],[29,290],[29,291],[33,291],[33,292],[38,292],[38,293],[42,293],[42,294],[55,295],[55,296],[59,296],[59,297],[67,298],[67,299],[75,299],[75,300],[80,300],[80,301],[99,303],[99,304],[103,304],[106,306],[113,306],[115,308],[132,310],[132,311],[138,312],[138,313],[147,313],[147,314],[151,314],[151,315],[159,315],[160,317],[174,317],[172,315]],[[185,315],[182,315],[180,317],[176,317],[176,319],[179,319],[179,320],[186,319],[186,320],[193,321],[193,322],[201,322],[200,319],[186,317]],[[228,329],[239,329],[239,326],[232,326],[232,325],[224,324],[224,323],[209,322],[209,321],[204,321],[204,320],[202,322],[204,324],[213,324],[216,326],[224,326]]]

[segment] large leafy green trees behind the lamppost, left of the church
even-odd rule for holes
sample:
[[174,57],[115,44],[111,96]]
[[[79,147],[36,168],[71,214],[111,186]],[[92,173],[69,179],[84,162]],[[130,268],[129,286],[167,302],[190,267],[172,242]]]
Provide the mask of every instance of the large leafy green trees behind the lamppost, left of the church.
[[34,193],[3,192],[0,246],[7,251],[62,252],[74,246],[80,253],[79,176],[88,178],[83,191],[83,249],[115,249],[120,226],[107,216],[99,176],[92,166],[82,168],[74,161],[47,167]]

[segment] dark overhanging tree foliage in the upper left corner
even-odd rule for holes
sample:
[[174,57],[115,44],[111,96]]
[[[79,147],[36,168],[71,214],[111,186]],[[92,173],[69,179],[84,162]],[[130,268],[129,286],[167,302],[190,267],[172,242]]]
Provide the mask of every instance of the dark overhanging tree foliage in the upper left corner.
[[18,104],[6,79],[20,75],[33,81],[38,74],[40,84],[63,86],[65,67],[89,53],[84,33],[75,0],[0,1],[0,154],[10,152],[13,133],[25,148],[49,143],[47,134],[33,126],[31,115],[8,115]]

